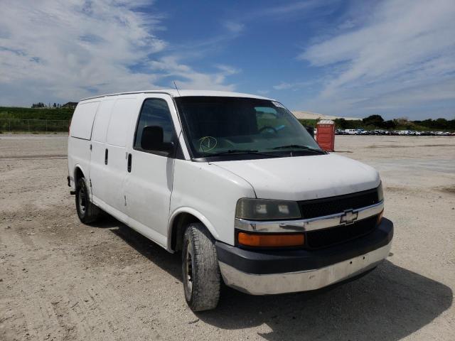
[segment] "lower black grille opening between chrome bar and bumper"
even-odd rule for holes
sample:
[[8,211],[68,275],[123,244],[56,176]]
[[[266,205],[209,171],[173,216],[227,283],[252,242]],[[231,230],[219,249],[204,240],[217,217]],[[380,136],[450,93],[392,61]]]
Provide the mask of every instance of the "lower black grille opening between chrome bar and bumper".
[[306,232],[306,247],[308,249],[321,249],[361,237],[372,232],[376,227],[377,221],[378,215],[373,215],[373,217],[354,222],[353,224]]

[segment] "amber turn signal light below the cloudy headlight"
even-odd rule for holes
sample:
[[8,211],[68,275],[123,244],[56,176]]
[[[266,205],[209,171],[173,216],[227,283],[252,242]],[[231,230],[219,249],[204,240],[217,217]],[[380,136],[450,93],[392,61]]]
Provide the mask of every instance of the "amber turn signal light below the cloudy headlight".
[[250,234],[239,232],[239,244],[246,247],[298,247],[304,244],[304,234]]

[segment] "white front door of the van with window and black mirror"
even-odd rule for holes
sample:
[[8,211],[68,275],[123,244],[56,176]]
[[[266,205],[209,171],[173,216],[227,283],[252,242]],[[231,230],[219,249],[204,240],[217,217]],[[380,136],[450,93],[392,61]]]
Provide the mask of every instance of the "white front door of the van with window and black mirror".
[[[173,153],[169,150],[171,144],[174,150],[177,146],[180,126],[178,119],[173,119],[177,114],[170,96],[147,97],[142,103],[128,153],[124,186],[127,214],[130,226],[166,247],[174,165]],[[144,129],[148,131],[144,133]],[[157,141],[163,142],[162,148],[153,148],[159,145]]]

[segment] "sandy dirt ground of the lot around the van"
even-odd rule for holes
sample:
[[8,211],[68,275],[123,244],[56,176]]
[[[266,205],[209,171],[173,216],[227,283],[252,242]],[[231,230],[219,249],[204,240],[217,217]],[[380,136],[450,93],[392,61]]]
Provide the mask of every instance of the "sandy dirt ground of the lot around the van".
[[226,289],[195,314],[178,254],[79,222],[66,137],[0,135],[0,340],[455,340],[455,138],[337,136],[381,173],[389,258],[317,293]]

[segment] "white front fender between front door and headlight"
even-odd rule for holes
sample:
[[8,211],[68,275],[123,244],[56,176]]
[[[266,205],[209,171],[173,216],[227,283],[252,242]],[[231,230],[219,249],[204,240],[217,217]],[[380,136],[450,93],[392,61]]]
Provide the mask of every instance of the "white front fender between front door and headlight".
[[[210,232],[215,239],[234,245],[235,207],[241,197],[255,197],[255,191],[239,176],[210,163],[176,159],[171,216],[185,207],[200,212],[213,227]],[[169,223],[168,236],[172,226]]]

